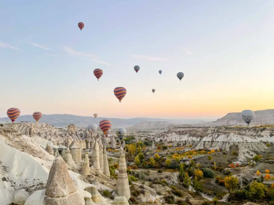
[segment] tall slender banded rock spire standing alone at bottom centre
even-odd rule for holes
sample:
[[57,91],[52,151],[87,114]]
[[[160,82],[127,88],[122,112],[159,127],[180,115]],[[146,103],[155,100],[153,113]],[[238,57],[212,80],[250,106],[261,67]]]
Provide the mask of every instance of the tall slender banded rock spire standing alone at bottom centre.
[[127,174],[127,166],[125,162],[125,151],[121,147],[120,148],[120,160],[119,160],[119,173],[118,173],[118,180],[117,186],[115,188],[116,193],[118,196],[125,196],[128,200],[130,198],[130,190],[128,184],[128,174]]

